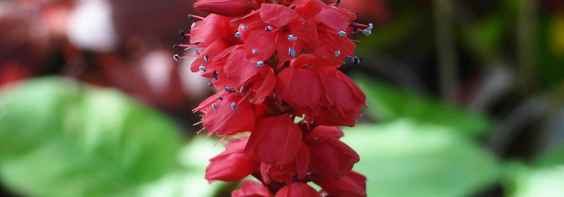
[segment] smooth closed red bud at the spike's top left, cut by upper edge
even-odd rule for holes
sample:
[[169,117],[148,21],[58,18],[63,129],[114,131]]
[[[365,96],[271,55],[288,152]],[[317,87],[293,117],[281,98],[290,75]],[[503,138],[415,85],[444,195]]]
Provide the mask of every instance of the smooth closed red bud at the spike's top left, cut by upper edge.
[[198,0],[194,8],[223,16],[239,16],[253,10],[248,0]]

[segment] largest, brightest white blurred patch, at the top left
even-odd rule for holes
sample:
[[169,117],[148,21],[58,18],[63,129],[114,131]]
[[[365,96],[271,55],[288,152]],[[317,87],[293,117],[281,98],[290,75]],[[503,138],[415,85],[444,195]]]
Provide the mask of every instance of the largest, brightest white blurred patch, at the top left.
[[75,46],[98,52],[113,50],[117,34],[113,28],[112,7],[104,0],[81,1],[70,13],[67,34]]

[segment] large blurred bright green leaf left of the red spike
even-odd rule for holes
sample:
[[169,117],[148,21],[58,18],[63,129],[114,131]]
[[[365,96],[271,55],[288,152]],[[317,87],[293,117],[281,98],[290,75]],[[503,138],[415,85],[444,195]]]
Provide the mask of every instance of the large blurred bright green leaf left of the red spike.
[[179,128],[113,89],[61,78],[0,93],[0,175],[29,196],[131,196],[176,167]]

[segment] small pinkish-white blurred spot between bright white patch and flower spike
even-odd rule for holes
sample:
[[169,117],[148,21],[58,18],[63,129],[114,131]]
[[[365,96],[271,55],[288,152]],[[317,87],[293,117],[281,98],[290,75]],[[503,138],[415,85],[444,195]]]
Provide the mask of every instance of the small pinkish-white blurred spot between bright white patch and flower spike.
[[170,53],[164,51],[150,52],[141,62],[143,75],[155,92],[164,92],[170,85],[170,74],[173,60]]

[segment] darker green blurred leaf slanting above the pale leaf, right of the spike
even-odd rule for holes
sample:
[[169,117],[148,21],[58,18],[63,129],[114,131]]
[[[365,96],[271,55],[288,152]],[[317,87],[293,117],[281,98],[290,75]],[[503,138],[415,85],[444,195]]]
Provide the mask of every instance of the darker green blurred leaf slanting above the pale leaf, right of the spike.
[[365,77],[356,77],[355,81],[366,93],[366,102],[370,107],[367,113],[379,120],[409,118],[419,123],[449,127],[471,136],[482,136],[490,128],[490,121],[482,114],[462,110]]

